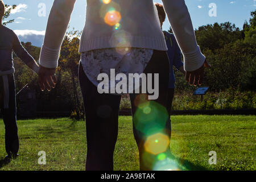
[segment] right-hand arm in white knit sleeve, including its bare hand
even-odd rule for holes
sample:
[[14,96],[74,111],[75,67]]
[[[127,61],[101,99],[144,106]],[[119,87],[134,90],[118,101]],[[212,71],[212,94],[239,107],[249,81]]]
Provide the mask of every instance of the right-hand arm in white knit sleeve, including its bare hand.
[[162,0],[176,40],[184,56],[186,80],[201,85],[204,67],[210,67],[196,42],[191,17],[184,0]]

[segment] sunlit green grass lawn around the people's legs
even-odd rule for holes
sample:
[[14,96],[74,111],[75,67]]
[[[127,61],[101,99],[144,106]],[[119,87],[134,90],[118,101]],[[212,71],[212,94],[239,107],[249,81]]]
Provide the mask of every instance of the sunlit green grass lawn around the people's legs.
[[[256,117],[229,115],[177,115],[172,119],[171,151],[187,169],[256,170]],[[85,122],[69,118],[18,121],[20,157],[1,170],[85,170]],[[46,152],[46,165],[38,152]],[[210,165],[209,151],[217,164]],[[0,160],[5,152],[5,129],[0,120]],[[138,149],[131,117],[119,117],[114,170],[138,170]]]

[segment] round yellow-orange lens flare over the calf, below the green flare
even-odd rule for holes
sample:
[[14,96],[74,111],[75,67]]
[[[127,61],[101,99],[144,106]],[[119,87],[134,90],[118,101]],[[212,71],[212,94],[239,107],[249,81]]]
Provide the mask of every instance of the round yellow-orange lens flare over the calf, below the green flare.
[[144,143],[144,149],[150,154],[160,154],[167,150],[170,144],[170,139],[167,135],[157,133],[147,138]]

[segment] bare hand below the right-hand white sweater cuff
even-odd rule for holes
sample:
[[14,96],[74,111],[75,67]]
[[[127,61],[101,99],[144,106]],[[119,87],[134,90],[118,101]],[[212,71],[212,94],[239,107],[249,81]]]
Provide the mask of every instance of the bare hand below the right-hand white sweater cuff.
[[187,82],[189,82],[190,85],[194,86],[200,86],[202,85],[202,82],[204,80],[204,68],[210,68],[211,65],[207,62],[207,60],[204,61],[204,65],[192,72],[186,72],[185,77]]

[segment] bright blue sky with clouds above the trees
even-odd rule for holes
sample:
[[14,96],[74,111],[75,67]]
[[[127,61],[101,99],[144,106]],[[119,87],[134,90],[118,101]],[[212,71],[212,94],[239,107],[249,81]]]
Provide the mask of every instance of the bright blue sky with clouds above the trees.
[[[15,22],[8,24],[7,27],[15,30],[20,40],[24,42],[30,41],[35,46],[39,46],[43,40],[53,0],[3,0],[3,2],[7,5],[18,5],[18,8],[10,15],[10,19],[15,19]],[[162,1],[154,0],[154,2]],[[228,21],[242,28],[245,20],[250,18],[250,11],[256,9],[256,0],[185,0],[185,2],[191,14],[194,28],[205,24]],[[39,3],[46,5],[46,16],[38,15]],[[217,16],[209,16],[210,3],[217,5]],[[70,27],[82,30],[85,23],[85,7],[86,0],[77,0],[71,17]],[[169,27],[170,24],[167,20],[164,23],[163,29],[168,30]]]

